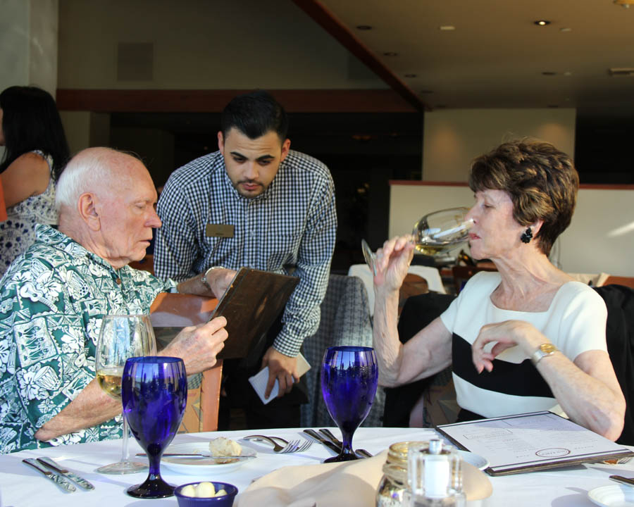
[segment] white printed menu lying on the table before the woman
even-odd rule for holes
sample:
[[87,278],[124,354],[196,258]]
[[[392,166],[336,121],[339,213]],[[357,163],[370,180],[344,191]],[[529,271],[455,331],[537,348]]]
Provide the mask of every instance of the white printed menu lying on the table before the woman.
[[487,458],[489,475],[634,456],[630,449],[548,411],[440,425],[436,429],[461,449]]

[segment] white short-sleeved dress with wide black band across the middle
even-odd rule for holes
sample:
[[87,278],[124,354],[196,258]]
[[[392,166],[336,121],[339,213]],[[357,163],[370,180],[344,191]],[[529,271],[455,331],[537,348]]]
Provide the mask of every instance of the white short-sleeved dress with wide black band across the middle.
[[547,311],[511,311],[491,302],[500,280],[499,273],[478,273],[440,316],[453,335],[453,377],[462,409],[459,420],[560,410],[547,382],[518,346],[500,353],[493,361],[492,372],[478,374],[471,359],[471,344],[483,325],[524,320],[545,334],[571,361],[585,351],[607,351],[607,309],[592,288],[568,282],[559,288]]

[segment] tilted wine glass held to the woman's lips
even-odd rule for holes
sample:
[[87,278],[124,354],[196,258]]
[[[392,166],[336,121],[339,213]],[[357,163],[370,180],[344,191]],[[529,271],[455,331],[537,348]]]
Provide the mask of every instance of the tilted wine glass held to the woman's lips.
[[[460,246],[469,239],[469,229],[473,225],[473,219],[466,219],[469,208],[447,208],[433,211],[423,216],[411,233],[411,242],[421,253],[435,256]],[[363,258],[376,275],[376,254],[370,249],[365,239],[361,239],[361,251]]]

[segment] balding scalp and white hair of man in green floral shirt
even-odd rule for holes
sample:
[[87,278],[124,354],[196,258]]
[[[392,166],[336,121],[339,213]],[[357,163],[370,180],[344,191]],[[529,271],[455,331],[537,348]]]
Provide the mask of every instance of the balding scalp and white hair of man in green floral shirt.
[[111,148],[80,151],[66,165],[56,188],[55,205],[60,213],[77,211],[82,194],[113,196],[149,173],[138,158]]

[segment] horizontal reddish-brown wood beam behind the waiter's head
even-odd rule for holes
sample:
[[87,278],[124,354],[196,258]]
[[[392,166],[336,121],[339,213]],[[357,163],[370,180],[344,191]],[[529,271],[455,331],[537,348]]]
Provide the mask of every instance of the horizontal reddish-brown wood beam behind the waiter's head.
[[[60,111],[94,113],[220,113],[247,89],[57,90]],[[289,113],[418,113],[391,89],[268,90]]]

